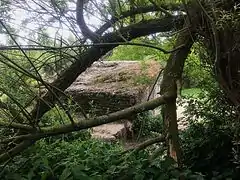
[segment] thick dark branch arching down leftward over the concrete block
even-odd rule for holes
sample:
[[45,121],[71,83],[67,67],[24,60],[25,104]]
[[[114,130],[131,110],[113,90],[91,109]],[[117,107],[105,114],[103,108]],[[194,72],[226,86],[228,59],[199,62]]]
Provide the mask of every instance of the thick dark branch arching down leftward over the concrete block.
[[[103,43],[124,42],[119,36],[119,33],[127,40],[132,40],[137,37],[157,33],[167,32],[174,28],[179,29],[182,27],[184,17],[166,17],[156,20],[148,20],[141,23],[131,25],[120,29],[119,32],[108,33],[102,37]],[[113,49],[117,45],[100,46],[89,48],[86,52],[81,54],[79,59],[74,62],[62,75],[52,83],[52,86],[56,87],[52,89],[56,95],[60,95],[60,91],[64,91],[68,88],[75,79],[84,72],[93,62],[97,61],[100,57],[105,55],[109,50]],[[52,95],[51,91],[39,99],[35,109],[32,111],[32,119],[41,118],[47,111],[53,107],[53,103],[56,98]],[[47,103],[46,103],[47,102]]]

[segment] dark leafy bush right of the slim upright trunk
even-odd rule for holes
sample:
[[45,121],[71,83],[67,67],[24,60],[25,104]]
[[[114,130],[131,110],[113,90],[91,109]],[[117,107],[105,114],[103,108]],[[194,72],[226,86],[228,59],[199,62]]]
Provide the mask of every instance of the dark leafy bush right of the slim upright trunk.
[[187,100],[185,115],[190,125],[181,133],[184,164],[207,179],[238,178],[240,171],[234,163],[238,152],[233,153],[239,129],[237,111],[219,89],[205,88],[207,93],[203,91],[197,99]]

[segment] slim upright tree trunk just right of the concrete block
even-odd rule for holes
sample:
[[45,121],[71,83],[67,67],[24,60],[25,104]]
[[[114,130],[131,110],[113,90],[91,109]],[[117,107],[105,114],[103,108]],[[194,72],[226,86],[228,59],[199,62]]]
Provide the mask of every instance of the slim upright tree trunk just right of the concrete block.
[[170,93],[174,96],[172,101],[163,106],[162,113],[165,129],[167,131],[168,155],[172,157],[179,167],[182,165],[181,148],[178,136],[176,98],[177,98],[177,81],[181,79],[184,62],[190,52],[193,44],[193,38],[189,29],[179,34],[176,47],[184,45],[183,48],[175,51],[168,59],[163,73],[160,94]]

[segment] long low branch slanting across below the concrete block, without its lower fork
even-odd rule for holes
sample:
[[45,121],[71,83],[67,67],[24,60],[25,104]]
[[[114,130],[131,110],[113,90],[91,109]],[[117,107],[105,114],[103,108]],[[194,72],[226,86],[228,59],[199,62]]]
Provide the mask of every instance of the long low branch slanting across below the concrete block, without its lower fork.
[[50,127],[50,128],[41,128],[41,130],[35,132],[34,134],[27,134],[27,135],[21,135],[9,139],[5,139],[0,141],[0,143],[8,143],[12,140],[38,140],[43,137],[48,136],[55,136],[59,134],[66,134],[73,131],[79,131],[82,129],[88,129],[91,127],[99,126],[102,124],[111,123],[120,119],[128,118],[132,114],[137,114],[140,112],[148,111],[151,109],[154,109],[162,104],[165,104],[173,99],[173,96],[171,94],[163,95],[159,98],[153,99],[151,101],[147,101],[141,104],[137,104],[135,106],[108,114],[99,116],[96,118],[90,118],[90,119],[81,119],[78,122],[74,124],[68,124],[68,125],[62,125],[60,127]]

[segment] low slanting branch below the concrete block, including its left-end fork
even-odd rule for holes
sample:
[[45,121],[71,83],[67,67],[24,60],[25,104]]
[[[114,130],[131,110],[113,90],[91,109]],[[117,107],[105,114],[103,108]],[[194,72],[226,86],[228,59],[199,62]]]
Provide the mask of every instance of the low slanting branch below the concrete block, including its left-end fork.
[[[16,147],[9,150],[8,152],[1,154],[0,163],[3,163],[7,161],[9,158],[13,158],[14,156],[18,155],[19,153],[27,149],[29,146],[31,146],[36,140],[39,140],[41,138],[48,137],[48,136],[55,136],[59,134],[66,134],[73,131],[79,131],[82,129],[87,129],[90,127],[124,119],[131,116],[132,114],[154,109],[162,104],[167,103],[168,101],[172,101],[172,98],[173,97],[171,94],[166,94],[154,100],[147,101],[145,103],[141,103],[133,107],[130,107],[121,111],[117,111],[115,113],[111,113],[109,115],[103,115],[103,116],[99,116],[97,118],[91,118],[88,120],[86,119],[80,120],[76,122],[75,126],[72,126],[72,124],[68,124],[68,125],[63,125],[63,126],[54,127],[54,128],[42,128],[40,132],[36,132],[34,134],[21,135],[16,138],[2,140],[0,143],[12,142],[12,140],[14,141],[23,140],[23,142],[21,142]],[[160,140],[161,139],[159,139],[159,141]],[[141,145],[139,148],[142,148],[143,146],[145,147],[145,145]]]

